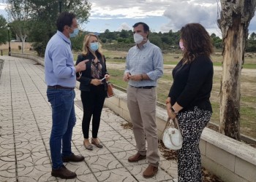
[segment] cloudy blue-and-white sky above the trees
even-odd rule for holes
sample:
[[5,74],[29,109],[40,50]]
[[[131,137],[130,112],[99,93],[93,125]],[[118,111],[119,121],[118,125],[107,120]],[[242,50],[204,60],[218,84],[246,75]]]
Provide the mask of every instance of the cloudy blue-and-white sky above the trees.
[[[6,14],[0,0],[0,14]],[[81,25],[85,31],[103,32],[132,29],[142,21],[151,31],[178,31],[186,23],[201,23],[209,33],[221,36],[217,27],[216,0],[89,0],[89,23]],[[220,4],[219,4],[220,6]],[[249,25],[249,33],[256,32],[256,17]]]

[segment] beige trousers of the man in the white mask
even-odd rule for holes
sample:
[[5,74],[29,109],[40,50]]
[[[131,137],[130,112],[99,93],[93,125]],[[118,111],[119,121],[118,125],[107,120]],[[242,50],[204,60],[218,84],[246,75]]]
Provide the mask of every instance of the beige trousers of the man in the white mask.
[[[140,89],[128,86],[127,106],[132,119],[136,150],[138,153],[146,155],[149,164],[157,167],[159,165],[159,154],[156,124],[156,88]],[[148,143],[147,150],[146,141]]]

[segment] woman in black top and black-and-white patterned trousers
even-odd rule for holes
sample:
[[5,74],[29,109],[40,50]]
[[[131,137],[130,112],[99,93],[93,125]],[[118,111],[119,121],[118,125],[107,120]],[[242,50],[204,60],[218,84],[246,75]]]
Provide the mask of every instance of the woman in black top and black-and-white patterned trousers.
[[181,28],[180,47],[183,58],[173,69],[166,109],[170,119],[177,117],[184,139],[178,151],[178,181],[200,182],[200,136],[212,113],[213,45],[202,25],[189,23]]

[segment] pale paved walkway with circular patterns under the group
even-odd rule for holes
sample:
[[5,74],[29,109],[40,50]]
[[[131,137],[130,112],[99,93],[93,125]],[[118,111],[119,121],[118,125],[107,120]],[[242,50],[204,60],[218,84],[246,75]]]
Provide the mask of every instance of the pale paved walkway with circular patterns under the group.
[[[51,108],[46,97],[44,68],[33,60],[1,56],[0,78],[0,181],[66,181],[50,175],[49,136]],[[126,121],[109,108],[102,111],[99,138],[103,148],[88,151],[83,146],[80,91],[75,90],[77,124],[72,150],[83,162],[64,163],[78,178],[67,181],[173,181],[177,164],[161,157],[159,173],[143,178],[146,160],[129,163],[135,154],[132,130],[121,127]]]

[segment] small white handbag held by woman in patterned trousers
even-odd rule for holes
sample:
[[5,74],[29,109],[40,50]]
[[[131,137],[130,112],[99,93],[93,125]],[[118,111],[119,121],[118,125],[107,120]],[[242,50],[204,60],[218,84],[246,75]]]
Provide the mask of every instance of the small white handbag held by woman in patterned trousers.
[[[174,124],[174,128],[170,127],[171,124]],[[181,130],[178,126],[178,119],[172,120],[170,123],[170,118],[167,119],[167,123],[165,125],[165,130],[162,136],[162,142],[165,144],[167,149],[178,150],[181,149],[183,138],[181,135]]]

